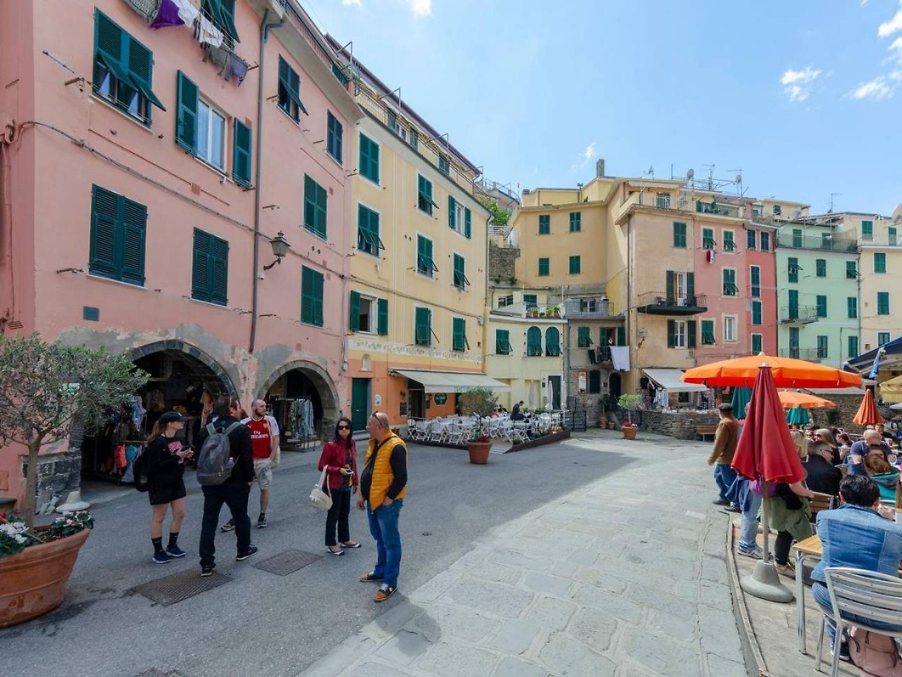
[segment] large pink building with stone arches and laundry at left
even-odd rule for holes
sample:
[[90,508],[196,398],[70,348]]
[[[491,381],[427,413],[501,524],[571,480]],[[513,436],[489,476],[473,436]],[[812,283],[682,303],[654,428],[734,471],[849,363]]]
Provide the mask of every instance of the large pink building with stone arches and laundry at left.
[[[175,407],[199,425],[205,391],[266,397],[285,444],[344,408],[362,113],[294,0],[191,2],[0,3],[0,331],[152,376],[142,407],[44,457],[43,497],[113,477],[123,422]],[[2,496],[22,494],[20,451]]]

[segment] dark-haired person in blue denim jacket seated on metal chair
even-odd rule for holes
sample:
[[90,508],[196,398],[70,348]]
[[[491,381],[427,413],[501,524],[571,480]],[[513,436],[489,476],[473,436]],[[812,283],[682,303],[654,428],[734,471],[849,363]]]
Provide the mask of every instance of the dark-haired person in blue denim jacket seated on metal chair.
[[[898,575],[902,559],[902,524],[884,519],[878,512],[880,495],[877,485],[862,475],[850,475],[840,483],[842,505],[836,510],[822,510],[817,514],[817,534],[821,537],[824,553],[812,571],[811,594],[829,614],[833,607],[827,592],[824,569],[850,567],[878,571],[889,576]],[[844,615],[852,622],[858,618]],[[886,630],[902,630],[902,624],[870,622],[870,626]],[[827,617],[827,634],[835,644],[836,627]],[[844,639],[840,658],[849,660],[849,649]]]

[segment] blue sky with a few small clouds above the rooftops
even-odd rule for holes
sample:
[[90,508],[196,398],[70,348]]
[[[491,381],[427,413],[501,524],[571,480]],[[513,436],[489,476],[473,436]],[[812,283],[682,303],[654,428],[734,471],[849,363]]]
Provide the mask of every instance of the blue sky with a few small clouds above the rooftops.
[[689,168],[747,194],[902,202],[902,0],[301,0],[485,175]]

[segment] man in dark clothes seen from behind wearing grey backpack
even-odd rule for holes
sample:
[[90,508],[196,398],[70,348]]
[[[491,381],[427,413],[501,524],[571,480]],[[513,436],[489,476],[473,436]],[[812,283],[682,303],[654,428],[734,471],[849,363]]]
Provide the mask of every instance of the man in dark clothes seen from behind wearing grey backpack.
[[220,395],[215,410],[218,418],[200,431],[198,482],[204,491],[204,521],[200,528],[200,575],[216,569],[216,526],[225,503],[235,521],[238,552],[235,561],[244,561],[257,547],[251,544],[251,518],[247,499],[253,485],[251,431],[240,420],[241,404],[235,397]]

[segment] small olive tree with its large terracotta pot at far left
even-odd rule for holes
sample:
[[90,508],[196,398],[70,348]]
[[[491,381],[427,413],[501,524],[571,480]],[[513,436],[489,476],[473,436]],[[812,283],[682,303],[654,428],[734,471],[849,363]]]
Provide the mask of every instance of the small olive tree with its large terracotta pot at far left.
[[23,515],[0,515],[0,627],[59,607],[87,540],[87,511],[34,527],[38,456],[66,444],[72,423],[86,430],[147,381],[127,357],[105,349],[45,343],[37,334],[0,338],[0,445],[28,450]]

